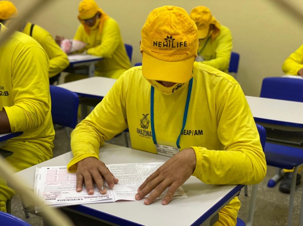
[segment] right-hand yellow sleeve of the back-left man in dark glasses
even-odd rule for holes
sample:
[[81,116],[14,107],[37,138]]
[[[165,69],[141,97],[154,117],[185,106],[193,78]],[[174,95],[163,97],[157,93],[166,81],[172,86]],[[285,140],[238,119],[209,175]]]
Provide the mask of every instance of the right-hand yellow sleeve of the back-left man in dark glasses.
[[120,29],[117,22],[110,18],[104,23],[101,44],[89,48],[87,53],[104,58],[111,58],[120,43],[120,37]]

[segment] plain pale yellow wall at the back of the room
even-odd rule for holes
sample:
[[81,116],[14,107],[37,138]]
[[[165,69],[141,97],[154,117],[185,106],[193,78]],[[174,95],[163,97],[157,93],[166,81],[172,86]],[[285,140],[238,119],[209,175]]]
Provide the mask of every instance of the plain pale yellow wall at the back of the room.
[[[12,0],[19,11],[29,0]],[[31,22],[53,36],[72,38],[79,24],[80,0],[52,0],[33,11]],[[238,82],[245,95],[259,96],[264,77],[280,76],[290,53],[303,44],[303,1],[300,0],[96,0],[120,25],[125,43],[134,47],[132,64],[141,61],[140,31],[148,13],[162,5],[177,5],[190,12],[197,5],[208,6],[212,14],[233,34],[233,51],[240,53]],[[287,2],[287,5],[283,5]],[[287,6],[290,5],[288,8]],[[293,7],[293,8],[292,8]],[[293,10],[295,9],[295,10]],[[296,13],[297,12],[297,13]]]

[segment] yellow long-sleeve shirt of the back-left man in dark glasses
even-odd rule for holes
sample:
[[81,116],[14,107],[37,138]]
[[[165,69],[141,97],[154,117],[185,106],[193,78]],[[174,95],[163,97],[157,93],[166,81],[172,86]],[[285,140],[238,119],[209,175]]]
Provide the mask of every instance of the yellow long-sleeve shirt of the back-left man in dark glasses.
[[74,39],[87,44],[85,50],[88,54],[104,57],[96,64],[96,75],[98,72],[121,71],[131,67],[119,26],[113,18],[104,22],[101,34],[99,29],[91,29],[90,34],[87,34],[84,26],[80,24]]

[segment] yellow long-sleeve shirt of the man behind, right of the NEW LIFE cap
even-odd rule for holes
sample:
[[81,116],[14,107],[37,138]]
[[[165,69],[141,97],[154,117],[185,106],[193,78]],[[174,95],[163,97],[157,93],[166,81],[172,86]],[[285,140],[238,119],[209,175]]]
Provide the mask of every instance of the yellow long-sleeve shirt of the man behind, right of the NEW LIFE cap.
[[232,49],[232,36],[228,27],[220,25],[220,33],[215,40],[199,40],[198,55],[203,57],[199,63],[207,64],[225,73],[228,72]]

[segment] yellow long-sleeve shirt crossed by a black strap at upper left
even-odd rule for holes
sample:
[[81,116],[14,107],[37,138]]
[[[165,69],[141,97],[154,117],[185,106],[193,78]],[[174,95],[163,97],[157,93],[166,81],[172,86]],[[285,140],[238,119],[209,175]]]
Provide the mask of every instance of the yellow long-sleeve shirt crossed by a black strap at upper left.
[[[22,32],[30,35],[31,25],[31,23],[27,23]],[[42,46],[48,56],[49,78],[59,74],[69,65],[66,53],[62,51],[48,31],[35,24],[32,30],[32,37]]]

